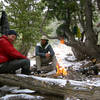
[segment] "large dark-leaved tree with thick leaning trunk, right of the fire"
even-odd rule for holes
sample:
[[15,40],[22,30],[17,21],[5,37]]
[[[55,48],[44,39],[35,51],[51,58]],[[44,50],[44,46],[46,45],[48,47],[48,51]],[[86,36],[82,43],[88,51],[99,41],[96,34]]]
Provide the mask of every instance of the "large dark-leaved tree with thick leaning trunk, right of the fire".
[[[96,19],[95,1],[92,0],[42,0],[49,9],[47,18],[63,21],[60,32],[67,38],[66,45],[71,46],[78,60],[87,57],[100,59],[100,47],[97,46],[97,34],[93,25]],[[73,35],[73,26],[80,25],[85,31],[85,41],[78,41]],[[62,30],[61,30],[62,27]],[[58,27],[59,28],[59,27]],[[67,51],[66,51],[67,52]]]

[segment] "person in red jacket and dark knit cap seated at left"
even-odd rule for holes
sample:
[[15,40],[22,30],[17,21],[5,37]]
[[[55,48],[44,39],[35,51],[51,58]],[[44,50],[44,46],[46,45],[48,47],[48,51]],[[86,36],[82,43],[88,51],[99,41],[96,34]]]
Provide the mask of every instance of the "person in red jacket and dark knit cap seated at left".
[[9,30],[6,35],[0,37],[0,74],[15,74],[20,68],[22,74],[30,74],[30,60],[13,46],[16,38],[17,33],[14,30]]

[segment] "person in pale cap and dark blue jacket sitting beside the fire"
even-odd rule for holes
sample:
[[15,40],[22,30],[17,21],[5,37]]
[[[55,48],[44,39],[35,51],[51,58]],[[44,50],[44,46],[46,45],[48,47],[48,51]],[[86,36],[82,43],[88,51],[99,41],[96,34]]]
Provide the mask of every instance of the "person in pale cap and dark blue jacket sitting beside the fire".
[[[48,66],[52,62],[52,70],[56,68],[56,57],[52,46],[48,43],[48,38],[42,36],[41,43],[36,45],[36,66],[37,72],[41,73],[42,66]],[[48,69],[48,67],[47,67]],[[46,71],[46,69],[45,69]]]

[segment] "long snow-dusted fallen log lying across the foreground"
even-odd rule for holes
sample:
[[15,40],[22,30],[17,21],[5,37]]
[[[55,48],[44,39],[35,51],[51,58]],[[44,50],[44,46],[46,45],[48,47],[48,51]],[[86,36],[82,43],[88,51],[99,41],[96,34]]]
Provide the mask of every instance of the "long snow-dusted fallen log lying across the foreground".
[[61,86],[51,81],[51,78],[47,79],[48,81],[46,78],[35,77],[33,75],[0,74],[0,83],[5,85],[27,88],[44,94],[70,95],[78,98],[88,98],[88,100],[100,98],[100,87],[72,85],[67,80],[64,80],[65,85]]

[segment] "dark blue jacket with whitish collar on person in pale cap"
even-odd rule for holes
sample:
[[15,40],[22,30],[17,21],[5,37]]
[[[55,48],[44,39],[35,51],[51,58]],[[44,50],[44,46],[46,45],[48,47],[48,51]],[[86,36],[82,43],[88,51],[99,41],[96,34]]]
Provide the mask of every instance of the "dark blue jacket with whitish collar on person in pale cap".
[[50,44],[47,44],[45,47],[42,47],[40,43],[37,44],[35,49],[36,56],[45,57],[46,53],[50,53],[51,56],[54,56],[54,51]]

